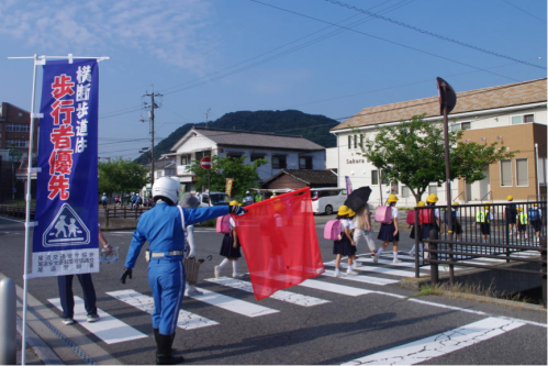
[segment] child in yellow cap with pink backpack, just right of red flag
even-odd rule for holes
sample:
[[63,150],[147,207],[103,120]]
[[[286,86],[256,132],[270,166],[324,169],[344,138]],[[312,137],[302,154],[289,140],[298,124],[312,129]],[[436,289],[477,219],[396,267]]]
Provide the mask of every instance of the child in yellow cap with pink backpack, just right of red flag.
[[333,242],[333,254],[335,257],[335,277],[340,277],[340,258],[344,255],[348,256],[348,268],[346,274],[348,276],[356,276],[357,273],[353,270],[353,262],[356,257],[356,243],[354,242],[351,233],[351,220],[356,213],[348,207],[342,206],[338,209],[337,220],[340,221],[340,240]]

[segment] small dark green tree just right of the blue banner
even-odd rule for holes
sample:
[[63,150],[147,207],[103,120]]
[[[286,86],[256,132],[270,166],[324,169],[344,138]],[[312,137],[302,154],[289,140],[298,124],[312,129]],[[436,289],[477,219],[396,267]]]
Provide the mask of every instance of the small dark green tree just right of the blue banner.
[[148,182],[146,168],[122,158],[109,163],[99,162],[98,169],[99,192],[107,192],[108,196],[137,191]]

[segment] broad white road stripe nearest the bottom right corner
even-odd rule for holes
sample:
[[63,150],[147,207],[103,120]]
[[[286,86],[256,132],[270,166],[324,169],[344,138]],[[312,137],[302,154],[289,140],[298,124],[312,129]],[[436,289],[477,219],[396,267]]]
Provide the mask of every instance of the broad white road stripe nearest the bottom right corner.
[[414,365],[515,330],[523,322],[487,318],[423,340],[356,358],[344,365]]

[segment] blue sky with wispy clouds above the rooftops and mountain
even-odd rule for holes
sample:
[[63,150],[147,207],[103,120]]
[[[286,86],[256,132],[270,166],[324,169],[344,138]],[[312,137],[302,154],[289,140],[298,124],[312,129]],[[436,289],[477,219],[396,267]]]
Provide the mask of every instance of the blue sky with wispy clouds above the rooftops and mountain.
[[436,77],[458,92],[547,74],[546,0],[0,0],[0,101],[24,110],[33,62],[8,57],[110,57],[99,64],[101,158],[150,146],[153,90],[157,144],[230,112],[344,122],[436,96]]

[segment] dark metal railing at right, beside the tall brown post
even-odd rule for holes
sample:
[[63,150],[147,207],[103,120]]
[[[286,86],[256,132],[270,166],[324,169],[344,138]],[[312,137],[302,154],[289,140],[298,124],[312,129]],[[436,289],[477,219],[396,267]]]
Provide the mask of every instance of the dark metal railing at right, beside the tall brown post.
[[[525,217],[517,217],[519,225],[513,228],[511,217],[514,215],[512,204],[516,209],[519,208],[522,213],[529,215],[530,209],[538,209],[538,220],[524,220]],[[462,204],[454,207],[455,214],[452,220],[457,222],[451,231],[449,231],[446,212],[447,207],[421,207],[415,208],[415,233],[420,233],[418,218],[423,210],[435,209],[437,212],[435,229],[429,231],[429,237],[425,241],[426,247],[424,253],[427,257],[423,260],[418,257],[418,251],[415,254],[415,277],[420,277],[421,266],[430,266],[432,281],[439,281],[438,266],[444,265],[449,267],[449,280],[454,282],[454,266],[474,267],[489,270],[504,270],[522,274],[540,276],[543,279],[543,298],[546,308],[546,277],[547,277],[547,202],[546,201],[528,201],[528,202],[507,202],[507,203],[481,203],[481,204]],[[489,220],[483,220],[481,224],[481,214],[479,212],[489,211]],[[432,213],[433,211],[429,211]],[[519,211],[517,212],[519,213]],[[478,222],[477,222],[478,221]],[[488,223],[489,225],[485,225]],[[487,228],[489,226],[489,230]],[[489,232],[489,234],[488,234]],[[415,247],[418,247],[421,234],[415,234]],[[519,252],[534,251],[538,252],[538,256],[515,255]],[[540,264],[541,269],[532,270],[515,268],[510,266],[484,265],[472,263],[474,258],[492,258],[502,259],[506,263]]]

